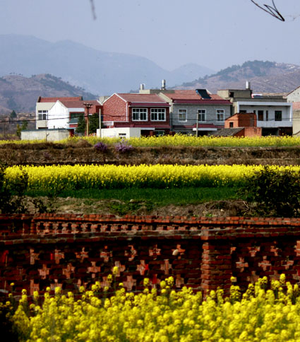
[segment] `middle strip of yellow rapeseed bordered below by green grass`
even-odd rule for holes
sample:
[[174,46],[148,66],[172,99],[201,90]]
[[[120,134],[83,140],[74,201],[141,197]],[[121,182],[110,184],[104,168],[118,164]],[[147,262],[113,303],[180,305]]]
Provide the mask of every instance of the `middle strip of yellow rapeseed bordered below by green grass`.
[[[128,187],[225,187],[239,186],[261,165],[52,165],[25,166],[29,190],[119,189]],[[272,170],[292,170],[299,166],[270,166]],[[6,169],[6,182],[13,184],[21,167]]]

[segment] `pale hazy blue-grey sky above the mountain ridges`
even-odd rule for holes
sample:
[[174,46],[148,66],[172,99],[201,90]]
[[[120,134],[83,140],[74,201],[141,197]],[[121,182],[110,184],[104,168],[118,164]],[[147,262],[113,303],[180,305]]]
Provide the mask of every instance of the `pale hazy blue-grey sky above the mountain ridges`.
[[0,0],[0,34],[73,40],[169,70],[190,62],[220,70],[253,59],[300,64],[300,0],[274,1],[285,22],[250,0],[94,0],[95,20],[90,0]]

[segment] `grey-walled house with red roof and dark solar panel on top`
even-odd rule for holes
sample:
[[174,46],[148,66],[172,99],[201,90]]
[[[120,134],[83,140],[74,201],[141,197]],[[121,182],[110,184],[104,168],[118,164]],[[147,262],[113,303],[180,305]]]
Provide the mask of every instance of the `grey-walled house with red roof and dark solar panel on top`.
[[206,89],[167,90],[160,98],[169,102],[171,129],[181,134],[212,134],[224,127],[231,103]]

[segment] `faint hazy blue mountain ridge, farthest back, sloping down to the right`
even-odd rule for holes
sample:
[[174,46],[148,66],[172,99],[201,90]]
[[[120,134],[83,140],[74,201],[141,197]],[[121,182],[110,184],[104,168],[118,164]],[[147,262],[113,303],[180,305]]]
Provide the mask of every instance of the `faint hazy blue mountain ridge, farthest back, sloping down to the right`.
[[215,72],[198,64],[167,71],[145,57],[102,52],[70,40],[53,43],[27,35],[0,35],[0,50],[0,76],[50,73],[97,95],[128,92],[138,89],[140,83],[159,88],[162,78],[167,80],[167,86],[176,86]]

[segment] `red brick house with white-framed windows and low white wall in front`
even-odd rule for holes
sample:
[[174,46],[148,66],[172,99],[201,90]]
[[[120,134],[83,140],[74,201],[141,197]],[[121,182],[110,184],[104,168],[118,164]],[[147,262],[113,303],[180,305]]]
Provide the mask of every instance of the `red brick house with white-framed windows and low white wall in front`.
[[169,104],[157,94],[114,93],[103,102],[102,136],[169,134]]

